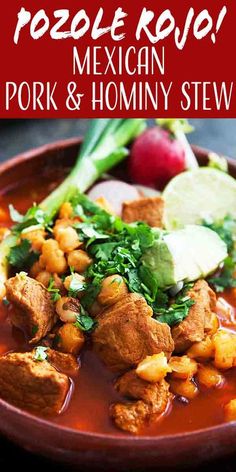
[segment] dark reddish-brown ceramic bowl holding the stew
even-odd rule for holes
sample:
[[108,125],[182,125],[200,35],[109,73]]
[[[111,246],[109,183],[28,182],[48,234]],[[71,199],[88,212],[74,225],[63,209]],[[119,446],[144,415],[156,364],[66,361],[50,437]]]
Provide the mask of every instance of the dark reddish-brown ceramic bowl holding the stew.
[[[0,186],[30,177],[40,169],[68,170],[81,140],[70,139],[21,154],[0,166]],[[194,147],[199,163],[207,162],[208,152]],[[236,177],[236,161],[229,159],[230,173]],[[120,167],[116,175],[122,176]],[[90,412],[90,414],[93,412]],[[0,400],[0,432],[28,451],[72,466],[96,467],[109,471],[134,468],[197,466],[206,460],[236,452],[236,422],[185,434],[163,437],[132,437],[80,432],[35,417]]]

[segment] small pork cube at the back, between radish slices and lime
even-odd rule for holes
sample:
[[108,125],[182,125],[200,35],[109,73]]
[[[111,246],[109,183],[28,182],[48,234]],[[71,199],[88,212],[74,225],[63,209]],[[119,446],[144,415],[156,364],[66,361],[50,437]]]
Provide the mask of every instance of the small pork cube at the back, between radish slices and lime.
[[126,223],[143,221],[149,226],[163,227],[164,200],[161,197],[146,197],[123,203],[122,219]]

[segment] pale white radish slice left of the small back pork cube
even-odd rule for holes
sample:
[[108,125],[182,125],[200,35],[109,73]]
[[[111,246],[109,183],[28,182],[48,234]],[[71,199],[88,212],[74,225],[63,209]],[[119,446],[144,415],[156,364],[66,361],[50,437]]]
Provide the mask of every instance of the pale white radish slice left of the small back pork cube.
[[107,180],[94,185],[88,192],[89,198],[95,201],[104,197],[110,203],[116,215],[121,215],[124,201],[137,200],[140,193],[134,185],[126,184],[121,180]]

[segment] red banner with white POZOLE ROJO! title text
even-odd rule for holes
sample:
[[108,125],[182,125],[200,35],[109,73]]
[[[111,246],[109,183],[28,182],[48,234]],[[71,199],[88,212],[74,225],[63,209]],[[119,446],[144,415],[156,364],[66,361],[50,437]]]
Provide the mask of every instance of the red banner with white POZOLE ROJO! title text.
[[11,0],[0,117],[236,117],[233,0]]

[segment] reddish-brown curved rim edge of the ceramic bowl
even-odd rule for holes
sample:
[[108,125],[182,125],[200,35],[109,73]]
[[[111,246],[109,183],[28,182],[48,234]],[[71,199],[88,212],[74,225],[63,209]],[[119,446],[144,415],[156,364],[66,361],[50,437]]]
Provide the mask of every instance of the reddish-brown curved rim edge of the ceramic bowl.
[[[15,155],[14,157],[8,159],[5,162],[0,164],[0,174],[7,172],[12,167],[18,165],[19,163],[24,163],[30,161],[32,159],[37,159],[43,154],[46,154],[50,151],[55,151],[57,149],[66,150],[70,146],[80,145],[82,142],[82,137],[75,137],[75,138],[68,138],[57,140],[49,144],[44,144],[42,146],[32,148],[26,152],[22,152],[20,154]],[[199,157],[207,157],[208,154],[211,152],[208,149],[202,148],[197,145],[191,146],[194,153]],[[236,169],[236,160],[226,157],[230,166]],[[126,433],[99,433],[96,431],[85,431],[80,429],[75,429],[69,426],[60,425],[58,423],[54,423],[53,421],[47,420],[45,418],[41,418],[30,412],[18,408],[14,405],[11,405],[7,401],[0,398],[0,408],[4,408],[6,413],[13,414],[15,417],[18,417],[22,420],[26,420],[28,423],[37,424],[38,426],[42,426],[51,432],[58,432],[62,431],[63,433],[74,437],[74,438],[84,438],[89,439],[90,444],[100,444],[104,440],[106,441],[106,445],[109,446],[122,446],[122,447],[129,447],[130,443],[135,443],[135,447],[142,448],[147,445],[157,445],[158,443],[166,442],[166,441],[176,441],[178,439],[191,439],[191,438],[198,438],[199,436],[208,436],[211,433],[218,433],[222,434],[226,432],[226,430],[236,431],[236,422],[231,421],[228,423],[221,423],[219,425],[210,426],[207,428],[200,428],[192,431],[184,431],[181,433],[173,433],[173,434],[165,434],[165,435],[158,435],[158,436],[135,436],[135,435],[126,435]],[[1,427],[0,427],[1,430]]]

